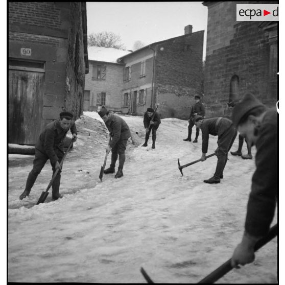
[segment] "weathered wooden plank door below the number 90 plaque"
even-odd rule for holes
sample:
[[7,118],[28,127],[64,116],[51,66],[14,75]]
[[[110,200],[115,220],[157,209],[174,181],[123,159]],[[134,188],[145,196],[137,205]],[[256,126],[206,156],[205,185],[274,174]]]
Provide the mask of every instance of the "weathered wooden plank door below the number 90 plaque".
[[9,144],[35,145],[41,131],[44,73],[9,69]]

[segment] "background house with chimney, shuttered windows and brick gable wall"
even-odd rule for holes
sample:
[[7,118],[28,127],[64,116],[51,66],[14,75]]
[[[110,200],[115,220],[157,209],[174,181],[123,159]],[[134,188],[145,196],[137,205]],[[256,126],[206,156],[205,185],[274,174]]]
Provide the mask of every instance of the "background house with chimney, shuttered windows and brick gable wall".
[[204,31],[152,43],[119,58],[125,64],[122,111],[143,115],[160,104],[161,117],[186,119],[202,90]]

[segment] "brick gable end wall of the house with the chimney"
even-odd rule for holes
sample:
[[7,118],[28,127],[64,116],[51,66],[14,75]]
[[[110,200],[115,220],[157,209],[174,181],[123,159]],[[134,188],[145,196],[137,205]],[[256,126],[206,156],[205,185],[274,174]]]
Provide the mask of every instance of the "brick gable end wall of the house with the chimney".
[[194,96],[203,91],[203,35],[199,31],[156,46],[154,100],[164,103],[161,117],[188,118]]

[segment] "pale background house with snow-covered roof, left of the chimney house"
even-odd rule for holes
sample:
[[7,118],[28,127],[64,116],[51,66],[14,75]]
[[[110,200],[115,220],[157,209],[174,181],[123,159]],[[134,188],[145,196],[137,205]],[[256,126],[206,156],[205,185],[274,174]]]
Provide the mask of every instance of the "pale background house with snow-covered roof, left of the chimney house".
[[89,74],[85,77],[84,111],[105,105],[121,112],[124,64],[117,61],[130,51],[112,47],[88,46]]

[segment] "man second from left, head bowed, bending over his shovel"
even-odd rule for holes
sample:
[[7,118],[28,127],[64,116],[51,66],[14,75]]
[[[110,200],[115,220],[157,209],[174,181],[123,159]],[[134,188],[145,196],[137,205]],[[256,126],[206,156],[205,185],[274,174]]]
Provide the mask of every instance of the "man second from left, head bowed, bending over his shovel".
[[102,106],[98,110],[98,114],[104,121],[112,139],[107,146],[106,151],[109,153],[112,151],[110,167],[104,170],[105,174],[115,172],[115,164],[117,158],[119,159],[119,165],[115,178],[122,177],[124,163],[126,160],[125,150],[127,147],[128,139],[131,136],[131,132],[127,123],[118,115],[110,113],[105,106]]

